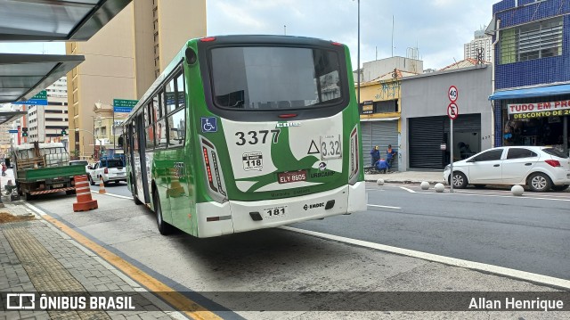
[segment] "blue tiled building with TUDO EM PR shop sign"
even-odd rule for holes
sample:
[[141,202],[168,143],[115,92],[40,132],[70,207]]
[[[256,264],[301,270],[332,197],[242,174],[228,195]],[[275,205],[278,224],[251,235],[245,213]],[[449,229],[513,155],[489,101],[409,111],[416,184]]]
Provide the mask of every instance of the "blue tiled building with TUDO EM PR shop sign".
[[567,152],[570,1],[503,0],[494,44],[494,145],[557,145]]

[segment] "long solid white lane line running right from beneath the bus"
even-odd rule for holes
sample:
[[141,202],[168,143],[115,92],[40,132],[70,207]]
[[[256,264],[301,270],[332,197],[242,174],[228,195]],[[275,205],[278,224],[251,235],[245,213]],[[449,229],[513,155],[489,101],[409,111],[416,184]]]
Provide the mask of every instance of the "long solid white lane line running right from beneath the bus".
[[468,260],[463,260],[460,258],[445,257],[445,256],[436,255],[433,253],[421,252],[421,251],[416,251],[416,250],[397,248],[397,247],[392,247],[392,246],[388,246],[385,244],[379,244],[379,243],[375,243],[375,242],[365,242],[362,240],[346,238],[346,237],[339,236],[339,235],[322,234],[322,233],[319,233],[316,231],[298,229],[298,228],[294,228],[291,226],[280,226],[280,228],[284,229],[284,230],[296,232],[298,234],[313,235],[315,237],[319,237],[322,239],[332,240],[332,241],[336,241],[336,242],[345,242],[345,243],[354,244],[354,245],[357,245],[360,247],[386,251],[386,252],[395,253],[395,254],[408,256],[408,257],[412,257],[412,258],[421,258],[421,259],[428,260],[428,261],[443,263],[445,265],[449,265],[449,266],[453,266],[453,267],[464,267],[464,268],[482,271],[482,272],[490,273],[490,274],[494,274],[494,275],[504,275],[504,276],[508,276],[510,278],[525,280],[525,281],[529,281],[532,283],[546,284],[546,285],[550,285],[550,286],[554,286],[554,287],[558,287],[558,288],[563,288],[565,290],[570,289],[570,281],[569,280],[559,279],[559,278],[555,278],[555,277],[548,276],[548,275],[538,275],[538,274],[533,274],[533,273],[526,272],[526,271],[511,269],[508,267],[499,267],[499,266],[494,266],[494,265],[487,265],[485,263],[468,261]]

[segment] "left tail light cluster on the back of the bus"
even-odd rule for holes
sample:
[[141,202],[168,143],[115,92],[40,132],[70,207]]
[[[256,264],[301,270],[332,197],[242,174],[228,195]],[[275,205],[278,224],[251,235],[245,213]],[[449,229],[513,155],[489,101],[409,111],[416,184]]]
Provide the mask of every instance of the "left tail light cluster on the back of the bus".
[[227,200],[227,194],[224,191],[224,174],[220,168],[221,166],[219,163],[219,156],[216,152],[216,147],[204,137],[201,138],[201,147],[202,160],[204,161],[204,169],[206,172],[206,179],[208,181],[208,194],[213,200],[224,202]]

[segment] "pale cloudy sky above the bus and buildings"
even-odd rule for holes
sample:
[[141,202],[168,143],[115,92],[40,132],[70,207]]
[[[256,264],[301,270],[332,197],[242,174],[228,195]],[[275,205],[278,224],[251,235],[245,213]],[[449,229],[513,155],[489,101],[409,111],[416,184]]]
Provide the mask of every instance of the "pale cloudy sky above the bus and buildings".
[[[348,45],[356,69],[358,0],[206,0],[208,36],[318,37]],[[360,0],[361,65],[419,49],[424,69],[463,60],[499,0]],[[394,17],[394,38],[392,19]],[[394,41],[394,48],[392,48]],[[0,43],[0,53],[65,54],[61,43]]]

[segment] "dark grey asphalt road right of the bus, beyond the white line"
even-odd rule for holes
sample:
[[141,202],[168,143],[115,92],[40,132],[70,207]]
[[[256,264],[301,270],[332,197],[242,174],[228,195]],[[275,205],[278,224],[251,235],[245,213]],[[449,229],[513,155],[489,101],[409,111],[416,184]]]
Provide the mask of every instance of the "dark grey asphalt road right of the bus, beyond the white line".
[[293,226],[570,279],[570,193],[372,184],[368,191],[366,212]]

